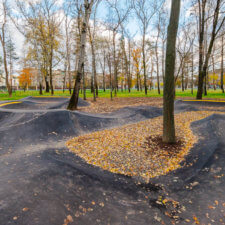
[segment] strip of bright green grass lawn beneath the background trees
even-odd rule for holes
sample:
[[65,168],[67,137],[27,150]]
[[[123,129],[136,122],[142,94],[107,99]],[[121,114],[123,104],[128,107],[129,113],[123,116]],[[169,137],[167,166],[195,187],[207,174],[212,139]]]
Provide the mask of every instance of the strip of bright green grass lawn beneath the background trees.
[[[196,97],[196,90],[194,91],[194,95],[191,94],[190,90],[186,90],[184,92],[182,92],[180,89],[176,90],[176,96],[177,98],[179,97]],[[0,101],[5,101],[5,100],[19,100],[28,96],[39,96],[39,92],[38,91],[15,91],[13,92],[12,97],[10,98],[8,96],[7,92],[0,92]],[[50,93],[45,93],[43,94],[43,96],[51,96]],[[65,91],[63,93],[63,91],[61,90],[56,90],[55,91],[55,96],[64,96],[64,97],[69,97],[69,91]],[[80,93],[80,96],[82,97],[82,93]],[[152,90],[152,91],[148,91],[148,97],[162,97],[162,93],[160,95],[158,95],[157,90]],[[90,92],[90,90],[87,90],[87,97],[92,97],[92,94]],[[104,92],[103,90],[99,90],[99,97],[105,97],[105,98],[110,98],[110,91],[107,90],[106,92]],[[136,91],[136,90],[132,90],[131,93],[129,93],[128,91],[119,91],[117,94],[117,97],[145,97],[145,93],[144,91]],[[223,94],[221,92],[221,90],[209,90],[208,91],[208,95],[204,96],[204,98],[222,98],[225,99],[225,94]]]

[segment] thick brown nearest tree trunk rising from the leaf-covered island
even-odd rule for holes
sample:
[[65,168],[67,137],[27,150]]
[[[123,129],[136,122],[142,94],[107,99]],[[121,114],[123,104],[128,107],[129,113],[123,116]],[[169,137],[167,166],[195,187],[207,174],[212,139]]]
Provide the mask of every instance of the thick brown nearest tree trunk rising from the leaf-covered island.
[[180,0],[172,0],[170,22],[167,31],[166,69],[163,95],[163,142],[165,143],[176,142],[174,124],[174,72],[179,14]]

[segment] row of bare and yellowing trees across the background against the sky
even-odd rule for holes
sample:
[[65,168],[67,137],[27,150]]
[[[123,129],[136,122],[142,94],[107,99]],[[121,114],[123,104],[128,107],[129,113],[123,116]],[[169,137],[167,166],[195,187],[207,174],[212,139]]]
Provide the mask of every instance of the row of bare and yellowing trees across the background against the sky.
[[[83,1],[77,0],[65,1],[63,4],[58,0],[2,1],[0,37],[6,86],[10,95],[12,88],[9,65],[12,65],[13,60],[7,56],[10,52],[11,56],[15,55],[7,48],[7,42],[11,39],[10,26],[16,26],[25,37],[22,65],[24,68],[38,69],[40,94],[43,83],[46,92],[51,90],[54,94],[54,68],[64,69],[64,86],[68,83],[71,92],[72,71],[77,71],[79,66],[85,14],[83,4]],[[12,6],[16,6],[13,12]],[[183,12],[187,12],[181,19],[178,32],[175,83],[181,84],[182,90],[189,86],[193,92],[198,80],[197,97],[201,98],[203,91],[206,94],[210,80],[207,76],[209,70],[214,71],[220,67],[221,81],[223,79],[224,3],[223,0],[192,0],[184,3],[184,6]],[[102,9],[108,11],[104,18],[99,13]],[[152,88],[153,77],[157,78],[160,94],[165,77],[168,26],[166,3],[163,0],[96,0],[89,17],[84,71],[92,73],[91,89],[94,99],[98,96],[99,88],[97,73],[103,74],[104,90],[106,75],[110,76],[111,96],[113,92],[117,95],[119,86],[130,91],[132,80],[135,80],[137,90],[144,90],[147,94]],[[127,28],[130,23],[135,24],[136,35]],[[196,79],[197,73],[199,75]],[[82,76],[81,79],[85,92],[85,77]],[[220,84],[223,91],[223,82]]]

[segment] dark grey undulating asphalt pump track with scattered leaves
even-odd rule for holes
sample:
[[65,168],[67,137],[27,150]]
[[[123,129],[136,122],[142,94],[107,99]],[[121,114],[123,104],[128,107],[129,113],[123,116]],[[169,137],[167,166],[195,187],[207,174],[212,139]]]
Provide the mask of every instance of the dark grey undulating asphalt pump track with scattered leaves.
[[[31,97],[18,104],[0,103],[1,225],[63,225],[68,215],[73,225],[171,224],[165,212],[177,224],[193,224],[193,216],[201,224],[225,224],[224,115],[192,124],[201,139],[187,157],[189,166],[143,184],[86,164],[68,151],[65,141],[153,118],[162,109],[127,107],[97,115],[67,111],[67,103],[65,98]],[[177,101],[175,108],[197,111],[201,104]],[[217,105],[225,109],[225,103]],[[161,197],[180,205],[165,207],[157,201]]]

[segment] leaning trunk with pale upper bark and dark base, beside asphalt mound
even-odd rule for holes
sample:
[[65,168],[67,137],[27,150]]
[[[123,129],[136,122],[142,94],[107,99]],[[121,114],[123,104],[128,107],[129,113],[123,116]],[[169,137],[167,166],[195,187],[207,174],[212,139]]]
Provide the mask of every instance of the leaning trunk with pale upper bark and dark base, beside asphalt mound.
[[78,70],[77,76],[74,84],[73,94],[70,98],[69,105],[67,107],[68,110],[76,110],[79,99],[79,90],[80,90],[80,82],[82,78],[82,71],[84,68],[84,56],[85,56],[85,46],[86,46],[86,36],[87,36],[87,25],[90,18],[90,13],[93,5],[93,0],[89,3],[85,1],[85,15],[82,23],[81,29],[81,46],[79,52],[79,62],[78,62]]

